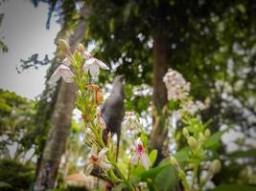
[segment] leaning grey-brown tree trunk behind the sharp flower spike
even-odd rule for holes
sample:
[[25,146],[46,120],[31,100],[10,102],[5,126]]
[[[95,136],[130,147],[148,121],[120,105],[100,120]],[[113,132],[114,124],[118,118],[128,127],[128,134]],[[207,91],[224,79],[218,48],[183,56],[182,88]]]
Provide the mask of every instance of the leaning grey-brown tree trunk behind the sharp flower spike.
[[[85,19],[89,10],[85,5],[81,10],[81,19],[77,24],[69,43],[73,52],[77,44],[83,39],[85,32]],[[65,150],[66,138],[71,125],[72,112],[75,107],[76,86],[74,83],[59,85],[58,98],[51,118],[50,131],[46,140],[38,175],[35,180],[35,190],[54,188],[58,175],[58,165]]]

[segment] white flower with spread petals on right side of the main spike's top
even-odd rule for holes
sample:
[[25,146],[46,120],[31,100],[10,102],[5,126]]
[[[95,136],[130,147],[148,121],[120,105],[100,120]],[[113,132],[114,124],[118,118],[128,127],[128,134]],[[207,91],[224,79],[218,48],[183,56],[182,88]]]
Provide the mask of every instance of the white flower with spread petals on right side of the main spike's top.
[[109,70],[108,66],[106,66],[104,62],[94,57],[86,60],[83,65],[83,70],[85,72],[89,72],[93,77],[98,77],[100,74],[100,68]]

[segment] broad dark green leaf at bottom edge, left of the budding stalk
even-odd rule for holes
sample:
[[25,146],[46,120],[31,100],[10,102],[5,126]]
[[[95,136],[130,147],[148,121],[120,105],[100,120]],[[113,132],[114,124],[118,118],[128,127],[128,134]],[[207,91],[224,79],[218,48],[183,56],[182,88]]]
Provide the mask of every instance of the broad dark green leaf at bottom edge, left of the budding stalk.
[[177,183],[175,169],[173,166],[168,165],[162,171],[160,171],[155,180],[155,186],[161,191],[170,191],[175,188]]

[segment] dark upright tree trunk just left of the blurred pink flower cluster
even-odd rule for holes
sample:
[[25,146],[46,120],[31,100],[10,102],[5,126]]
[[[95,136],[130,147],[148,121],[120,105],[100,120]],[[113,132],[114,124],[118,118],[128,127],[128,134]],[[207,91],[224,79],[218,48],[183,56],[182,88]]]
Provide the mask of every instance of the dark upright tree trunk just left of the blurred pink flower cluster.
[[165,120],[167,111],[167,90],[163,76],[169,67],[168,56],[168,25],[166,21],[166,7],[159,3],[156,8],[155,29],[153,31],[153,124],[151,130],[151,149],[157,149],[156,164],[163,159],[163,143],[167,137]]

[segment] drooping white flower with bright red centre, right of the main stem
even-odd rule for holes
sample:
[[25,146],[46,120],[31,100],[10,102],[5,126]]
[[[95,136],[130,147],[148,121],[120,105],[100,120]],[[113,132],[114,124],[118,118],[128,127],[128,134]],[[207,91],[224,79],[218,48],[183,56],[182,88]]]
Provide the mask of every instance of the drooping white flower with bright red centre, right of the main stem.
[[151,165],[151,160],[149,159],[148,154],[145,152],[143,143],[140,138],[137,138],[135,140],[135,151],[130,161],[133,164],[137,164],[138,162],[140,162],[142,166],[146,169],[149,169]]

